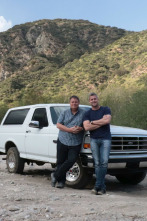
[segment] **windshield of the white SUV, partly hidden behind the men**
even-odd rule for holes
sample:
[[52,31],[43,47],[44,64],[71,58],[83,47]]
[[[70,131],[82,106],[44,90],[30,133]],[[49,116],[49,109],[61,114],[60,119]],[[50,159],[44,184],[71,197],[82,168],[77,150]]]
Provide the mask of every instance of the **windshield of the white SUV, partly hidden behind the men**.
[[[80,106],[81,109],[88,111],[90,107],[86,106]],[[52,117],[52,122],[53,124],[57,123],[58,117],[63,112],[64,110],[69,109],[69,106],[55,106],[55,107],[50,107],[50,112],[51,112],[51,117]]]

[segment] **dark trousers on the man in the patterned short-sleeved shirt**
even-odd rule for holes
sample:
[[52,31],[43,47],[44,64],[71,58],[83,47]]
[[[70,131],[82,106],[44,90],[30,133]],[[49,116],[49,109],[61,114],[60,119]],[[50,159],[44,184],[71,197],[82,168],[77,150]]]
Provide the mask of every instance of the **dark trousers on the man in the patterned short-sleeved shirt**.
[[57,141],[57,169],[54,173],[57,181],[66,181],[66,172],[74,165],[76,162],[79,152],[81,149],[81,144],[78,146],[66,146],[62,144],[59,139]]

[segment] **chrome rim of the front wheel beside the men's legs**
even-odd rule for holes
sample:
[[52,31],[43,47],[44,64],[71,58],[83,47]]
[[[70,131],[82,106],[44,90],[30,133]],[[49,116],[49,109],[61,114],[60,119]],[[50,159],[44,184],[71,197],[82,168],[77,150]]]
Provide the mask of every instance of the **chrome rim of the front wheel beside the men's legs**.
[[76,181],[80,176],[80,167],[75,163],[70,170],[66,173],[66,180],[69,182]]

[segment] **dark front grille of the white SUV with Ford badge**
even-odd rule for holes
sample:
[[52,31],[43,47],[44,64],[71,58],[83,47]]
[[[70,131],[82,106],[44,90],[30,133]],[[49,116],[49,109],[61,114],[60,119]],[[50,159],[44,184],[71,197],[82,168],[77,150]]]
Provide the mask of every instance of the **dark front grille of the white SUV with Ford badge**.
[[111,151],[147,150],[147,137],[112,136]]

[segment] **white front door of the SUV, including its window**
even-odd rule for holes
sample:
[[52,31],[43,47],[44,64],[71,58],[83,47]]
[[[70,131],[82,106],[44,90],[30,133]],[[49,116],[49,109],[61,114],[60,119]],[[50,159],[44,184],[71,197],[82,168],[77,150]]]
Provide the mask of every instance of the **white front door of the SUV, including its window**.
[[36,108],[32,121],[39,121],[40,128],[28,125],[26,128],[25,149],[28,159],[49,162],[49,123],[46,108]]

